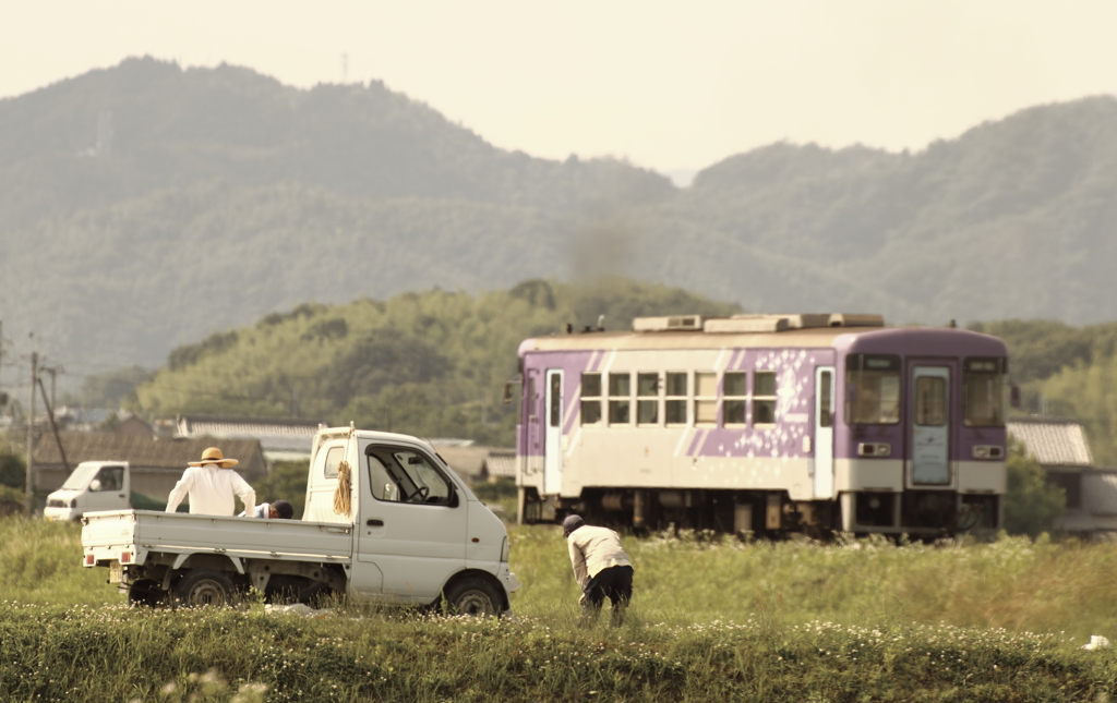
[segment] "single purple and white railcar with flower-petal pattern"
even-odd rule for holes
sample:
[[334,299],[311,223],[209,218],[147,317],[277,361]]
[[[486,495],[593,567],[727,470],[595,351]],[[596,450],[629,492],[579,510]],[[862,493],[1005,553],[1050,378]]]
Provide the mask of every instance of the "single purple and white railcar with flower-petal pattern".
[[1008,355],[875,315],[637,318],[519,346],[522,522],[919,537],[1001,526]]

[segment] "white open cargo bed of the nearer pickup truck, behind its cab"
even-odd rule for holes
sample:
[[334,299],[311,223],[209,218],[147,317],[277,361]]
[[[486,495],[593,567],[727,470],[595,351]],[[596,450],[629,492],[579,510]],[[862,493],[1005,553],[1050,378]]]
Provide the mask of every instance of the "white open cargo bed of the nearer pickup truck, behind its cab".
[[87,513],[82,524],[87,567],[142,565],[151,552],[349,564],[353,551],[353,526],[336,522],[113,510]]

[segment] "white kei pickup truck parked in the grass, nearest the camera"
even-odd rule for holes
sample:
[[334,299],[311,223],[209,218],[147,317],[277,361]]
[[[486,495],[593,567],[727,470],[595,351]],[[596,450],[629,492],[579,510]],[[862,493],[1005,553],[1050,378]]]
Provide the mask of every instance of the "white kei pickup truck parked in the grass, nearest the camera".
[[[346,487],[349,490],[346,491]],[[347,512],[346,512],[347,510]],[[83,566],[139,605],[220,605],[255,587],[500,615],[519,587],[504,523],[412,436],[319,428],[302,520],[87,512]]]

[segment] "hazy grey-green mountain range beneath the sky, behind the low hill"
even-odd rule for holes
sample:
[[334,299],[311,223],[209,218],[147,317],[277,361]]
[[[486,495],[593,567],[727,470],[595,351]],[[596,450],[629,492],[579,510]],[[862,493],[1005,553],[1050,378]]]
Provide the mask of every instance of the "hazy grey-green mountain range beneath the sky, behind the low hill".
[[0,100],[0,321],[90,373],[305,301],[537,277],[892,322],[1098,321],[1117,318],[1115,194],[1111,97],[916,154],[774,144],[678,189],[498,150],[376,83],[128,59]]

